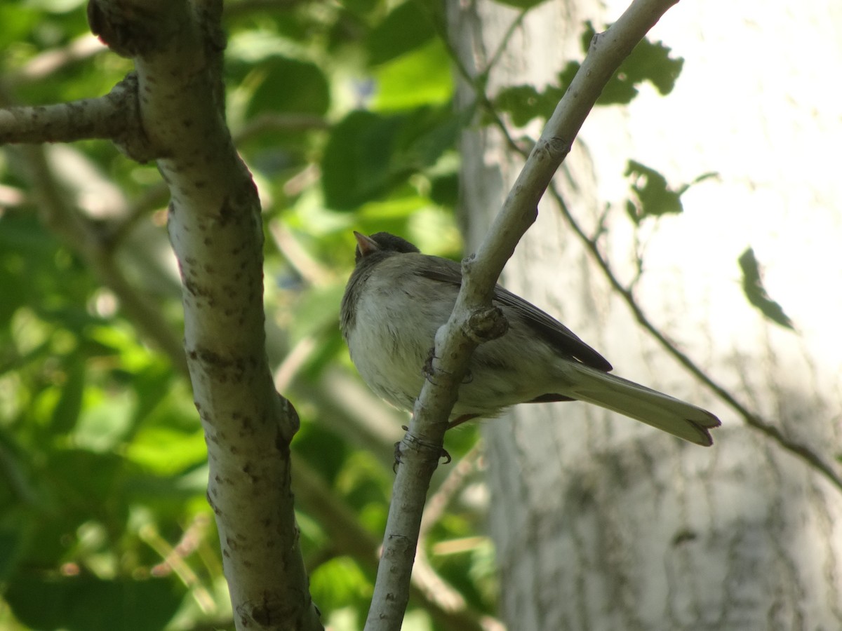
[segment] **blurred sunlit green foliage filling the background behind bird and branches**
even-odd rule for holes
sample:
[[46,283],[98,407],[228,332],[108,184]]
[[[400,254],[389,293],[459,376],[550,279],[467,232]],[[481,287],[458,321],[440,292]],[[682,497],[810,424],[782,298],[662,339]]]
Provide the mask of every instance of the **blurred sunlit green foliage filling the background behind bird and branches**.
[[[452,108],[435,10],[412,1],[226,3],[226,112],[264,201],[268,352],[301,415],[298,521],[312,595],[340,630],[365,619],[403,418],[370,398],[352,401],[368,395],[338,331],[351,231],[392,231],[424,252],[461,253],[456,141],[468,114]],[[89,45],[84,13],[82,0],[0,4],[0,106],[98,96],[131,70]],[[680,61],[661,45],[641,46],[643,67],[624,66],[611,103],[627,102],[643,80],[669,91]],[[495,103],[515,122],[546,116],[568,70],[558,86],[512,87]],[[110,271],[92,267],[45,211],[43,183],[20,148],[3,148],[0,628],[232,628],[202,429],[181,358],[160,350],[182,326],[166,190],[154,166],[109,143],[45,147],[45,156],[65,212],[110,240]],[[645,201],[660,181],[642,168]],[[665,181],[658,191],[670,193]],[[138,321],[115,273],[167,331]],[[386,416],[393,432],[366,424],[370,416]],[[476,443],[476,428],[464,427],[447,447],[458,463]],[[463,478],[424,549],[472,611],[493,614],[493,549],[473,462],[467,473],[443,467],[434,480],[439,492],[445,476]],[[351,526],[374,543],[365,548],[361,535],[344,544]],[[435,627],[417,601],[410,620]]]

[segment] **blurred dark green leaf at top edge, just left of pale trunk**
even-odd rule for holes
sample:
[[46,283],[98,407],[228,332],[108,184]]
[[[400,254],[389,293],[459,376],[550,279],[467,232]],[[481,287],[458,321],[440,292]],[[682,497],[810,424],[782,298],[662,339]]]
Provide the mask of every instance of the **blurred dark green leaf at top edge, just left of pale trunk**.
[[365,40],[369,62],[373,66],[424,45],[435,36],[429,12],[415,0],[398,4]]

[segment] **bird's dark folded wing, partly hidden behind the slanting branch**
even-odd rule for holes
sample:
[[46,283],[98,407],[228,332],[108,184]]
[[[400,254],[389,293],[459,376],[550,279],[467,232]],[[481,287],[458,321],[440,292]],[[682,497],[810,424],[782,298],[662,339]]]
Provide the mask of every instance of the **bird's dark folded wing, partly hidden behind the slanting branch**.
[[[425,256],[424,265],[419,268],[418,273],[424,278],[453,284],[457,287],[462,284],[461,267],[456,261]],[[520,298],[520,296],[512,294],[508,289],[496,285],[493,302],[514,311],[525,324],[543,337],[552,347],[555,347],[557,352],[564,357],[578,359],[586,366],[605,373],[612,368],[607,359],[582,342],[567,326],[557,321],[552,315]]]

